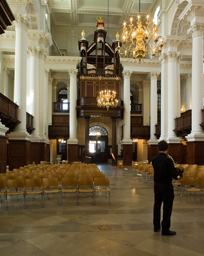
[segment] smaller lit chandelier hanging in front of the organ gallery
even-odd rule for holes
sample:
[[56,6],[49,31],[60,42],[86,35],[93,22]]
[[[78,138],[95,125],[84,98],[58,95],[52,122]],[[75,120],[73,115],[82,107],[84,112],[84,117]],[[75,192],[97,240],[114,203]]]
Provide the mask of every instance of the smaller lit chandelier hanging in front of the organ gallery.
[[97,105],[100,108],[115,108],[118,105],[118,99],[116,97],[116,92],[113,90],[104,90],[100,91],[100,94],[97,96]]

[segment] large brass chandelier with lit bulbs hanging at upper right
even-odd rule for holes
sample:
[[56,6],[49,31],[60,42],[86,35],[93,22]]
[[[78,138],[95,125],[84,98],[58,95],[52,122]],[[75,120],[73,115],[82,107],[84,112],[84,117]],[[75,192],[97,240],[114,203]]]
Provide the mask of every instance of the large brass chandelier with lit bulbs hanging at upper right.
[[[140,0],[139,0],[139,15],[137,17],[137,27],[134,26],[134,19],[131,17],[129,22],[123,23],[122,28],[122,39],[123,42],[119,42],[118,35],[116,34],[116,40],[118,40],[117,50],[120,55],[124,55],[125,59],[132,58],[135,62],[136,59],[144,61],[146,55],[149,55],[150,59],[154,57],[158,57],[162,52],[162,38],[158,36],[157,25],[155,24],[155,20],[153,19],[152,31],[149,29],[149,24],[152,23],[149,21],[149,15],[146,16],[146,25],[142,26],[141,15],[140,15]],[[127,28],[126,26],[129,26]],[[154,46],[150,44],[150,40],[154,41]],[[121,46],[124,47],[124,52],[121,51]],[[151,55],[150,55],[151,51]]]

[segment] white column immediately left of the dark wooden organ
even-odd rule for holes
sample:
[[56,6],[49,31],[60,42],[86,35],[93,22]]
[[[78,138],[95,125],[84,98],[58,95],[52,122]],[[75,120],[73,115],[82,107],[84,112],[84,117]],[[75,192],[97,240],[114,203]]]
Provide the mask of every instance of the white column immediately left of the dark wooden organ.
[[78,144],[77,139],[77,73],[78,70],[69,70],[70,75],[70,102],[69,102],[69,144]]

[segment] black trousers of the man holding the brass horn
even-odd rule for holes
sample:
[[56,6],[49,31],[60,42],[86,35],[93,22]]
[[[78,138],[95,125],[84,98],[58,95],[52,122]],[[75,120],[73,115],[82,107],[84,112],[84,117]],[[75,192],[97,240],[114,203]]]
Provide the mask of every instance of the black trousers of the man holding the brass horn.
[[162,232],[167,232],[171,225],[171,212],[174,199],[173,185],[172,183],[155,182],[154,191],[154,229],[161,228],[161,206],[163,202]]

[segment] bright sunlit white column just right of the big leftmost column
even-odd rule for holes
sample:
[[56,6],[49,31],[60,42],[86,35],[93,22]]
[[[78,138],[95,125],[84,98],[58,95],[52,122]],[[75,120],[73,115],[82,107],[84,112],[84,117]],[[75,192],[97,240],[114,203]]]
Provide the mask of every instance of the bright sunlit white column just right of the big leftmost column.
[[31,135],[32,142],[39,142],[39,47],[28,47],[30,54],[30,114],[34,116],[35,130]]

